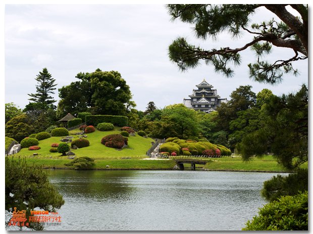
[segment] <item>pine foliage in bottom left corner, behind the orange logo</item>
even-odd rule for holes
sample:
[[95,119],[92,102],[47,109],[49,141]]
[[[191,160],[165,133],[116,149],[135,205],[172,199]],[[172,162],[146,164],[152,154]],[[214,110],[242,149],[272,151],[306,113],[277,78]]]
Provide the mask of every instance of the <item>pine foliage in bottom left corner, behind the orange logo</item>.
[[[49,182],[46,170],[36,166],[27,166],[26,160],[6,158],[5,209],[8,212],[26,210],[26,218],[30,211],[39,207],[55,212],[64,204],[62,195]],[[14,196],[12,196],[14,195]],[[30,228],[42,230],[42,225],[31,224]]]

